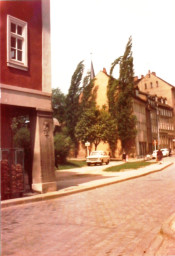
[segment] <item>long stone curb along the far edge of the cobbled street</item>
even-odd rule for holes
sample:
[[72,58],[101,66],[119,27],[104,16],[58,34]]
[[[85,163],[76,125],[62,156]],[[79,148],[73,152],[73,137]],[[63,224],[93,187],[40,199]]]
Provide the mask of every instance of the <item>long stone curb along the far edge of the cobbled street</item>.
[[106,181],[105,180],[96,180],[95,182],[87,182],[87,183],[85,183],[84,186],[82,184],[79,187],[78,186],[69,187],[69,188],[63,189],[62,191],[48,192],[45,194],[39,194],[39,195],[31,196],[31,197],[4,200],[1,202],[1,209],[10,207],[10,206],[34,203],[34,202],[39,202],[39,201],[46,201],[46,200],[50,200],[50,199],[56,199],[56,198],[59,198],[62,196],[67,196],[67,195],[71,195],[71,194],[75,194],[75,193],[79,193],[79,192],[83,192],[83,191],[92,190],[95,188],[104,187],[107,185],[112,185],[112,184],[119,183],[119,182],[143,177],[143,176],[149,175],[151,173],[162,171],[172,164],[173,163],[168,163],[161,169],[146,171],[145,173],[137,174],[137,175],[130,176],[130,177],[124,177],[124,178],[120,178],[120,179],[118,177],[106,178]]

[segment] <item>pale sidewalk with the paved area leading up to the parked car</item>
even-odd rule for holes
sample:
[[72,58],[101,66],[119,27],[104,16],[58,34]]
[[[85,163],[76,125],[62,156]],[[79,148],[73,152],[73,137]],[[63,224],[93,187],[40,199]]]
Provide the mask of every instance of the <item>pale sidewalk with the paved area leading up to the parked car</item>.
[[[112,165],[121,164],[121,162],[113,162]],[[129,170],[123,172],[103,172],[106,165],[101,167],[82,167],[70,170],[61,170],[56,172],[58,190],[45,194],[31,194],[31,196],[4,200],[1,202],[1,208],[14,205],[34,203],[55,199],[61,196],[66,196],[74,193],[79,193],[94,188],[123,182],[126,180],[138,178],[150,173],[161,171],[173,164],[165,162],[163,164],[153,164],[137,170]]]

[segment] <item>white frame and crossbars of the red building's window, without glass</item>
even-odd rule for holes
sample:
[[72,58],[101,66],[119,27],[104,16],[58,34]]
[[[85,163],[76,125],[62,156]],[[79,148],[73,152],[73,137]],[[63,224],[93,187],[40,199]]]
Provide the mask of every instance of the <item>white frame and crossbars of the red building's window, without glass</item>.
[[[22,27],[22,35],[18,35],[17,33],[11,32],[11,23],[15,24],[16,27]],[[28,24],[27,22],[15,18],[11,15],[7,15],[7,66],[28,70]],[[11,37],[15,37],[16,39],[22,40],[22,61],[17,59],[12,59],[11,57]]]

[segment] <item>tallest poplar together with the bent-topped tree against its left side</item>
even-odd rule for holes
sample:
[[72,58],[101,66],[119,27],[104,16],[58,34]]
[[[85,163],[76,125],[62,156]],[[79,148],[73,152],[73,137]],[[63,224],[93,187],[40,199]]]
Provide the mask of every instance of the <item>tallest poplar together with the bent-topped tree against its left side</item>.
[[136,117],[133,115],[132,96],[134,95],[134,70],[132,57],[132,38],[126,45],[124,55],[116,59],[112,65],[119,64],[119,79],[110,78],[108,84],[109,111],[117,121],[118,136],[122,147],[127,151],[128,143],[136,136]]

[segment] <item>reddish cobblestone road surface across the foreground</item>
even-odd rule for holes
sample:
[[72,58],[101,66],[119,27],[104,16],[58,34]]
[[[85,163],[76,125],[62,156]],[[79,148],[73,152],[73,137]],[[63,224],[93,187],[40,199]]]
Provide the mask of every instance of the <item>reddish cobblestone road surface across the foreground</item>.
[[[175,212],[174,183],[175,164],[138,179],[4,208],[2,256],[144,255]],[[173,255],[174,245],[164,242],[157,256]],[[171,254],[161,255],[166,250]]]

